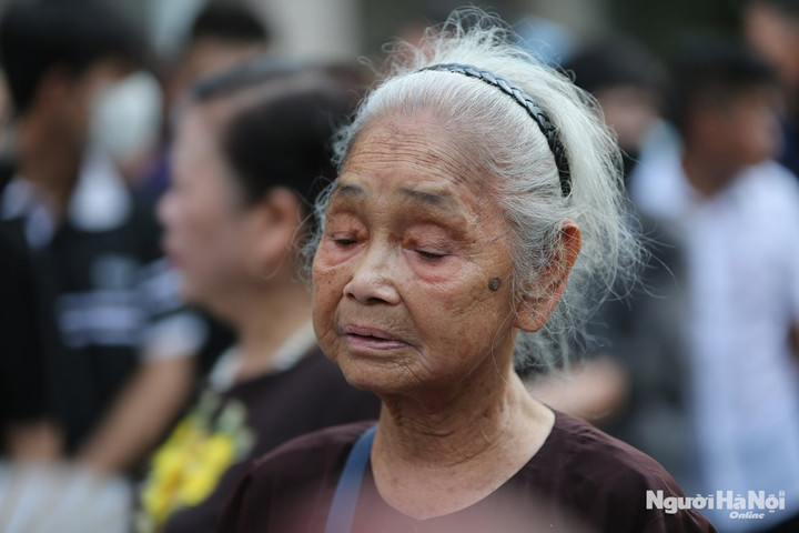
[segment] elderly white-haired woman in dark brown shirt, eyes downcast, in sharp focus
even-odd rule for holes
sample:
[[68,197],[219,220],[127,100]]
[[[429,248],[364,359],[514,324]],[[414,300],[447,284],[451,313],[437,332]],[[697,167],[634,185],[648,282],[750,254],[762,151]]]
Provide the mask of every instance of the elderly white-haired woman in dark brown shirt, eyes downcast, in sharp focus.
[[618,149],[584,93],[497,21],[465,27],[396,52],[318,210],[316,335],[380,420],[262,459],[219,531],[712,532],[647,501],[681,495],[655,461],[515,371],[567,351],[584,296],[636,244]]

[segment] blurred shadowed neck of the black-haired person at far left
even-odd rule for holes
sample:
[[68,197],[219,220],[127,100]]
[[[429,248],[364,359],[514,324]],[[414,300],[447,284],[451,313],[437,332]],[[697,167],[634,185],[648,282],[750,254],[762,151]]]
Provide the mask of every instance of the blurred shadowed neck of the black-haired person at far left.
[[47,195],[61,219],[78,182],[82,151],[36,117],[20,123],[18,149],[19,173]]

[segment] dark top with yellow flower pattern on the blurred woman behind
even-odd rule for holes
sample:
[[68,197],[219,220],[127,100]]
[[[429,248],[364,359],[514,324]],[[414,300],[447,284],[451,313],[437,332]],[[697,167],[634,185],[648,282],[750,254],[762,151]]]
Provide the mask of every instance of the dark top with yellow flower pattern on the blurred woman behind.
[[169,533],[211,532],[250,460],[299,435],[378,413],[380,400],[350,386],[318,348],[289,370],[223,392],[206,386],[154,454],[140,529],[160,531],[165,522]]

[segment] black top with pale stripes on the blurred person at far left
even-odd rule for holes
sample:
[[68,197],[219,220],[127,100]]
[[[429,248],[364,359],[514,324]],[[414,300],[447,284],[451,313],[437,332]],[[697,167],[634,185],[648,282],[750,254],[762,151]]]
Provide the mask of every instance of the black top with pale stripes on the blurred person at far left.
[[[68,453],[80,447],[130,380],[149,335],[163,334],[169,319],[188,315],[162,259],[152,205],[115,174],[81,187],[84,179],[82,173],[68,214],[50,220],[52,230],[39,240],[32,230],[42,228],[45,209],[16,192],[29,185],[7,180],[0,190],[3,248],[13,250],[3,252],[2,273],[10,274],[0,282],[1,295],[9,294],[0,298],[0,316],[12,318],[0,326],[0,375],[13,378],[13,386],[0,383],[14,405],[7,416],[36,412],[54,420]],[[112,197],[124,209],[103,224],[78,223],[74,212],[99,203],[91,197],[94,203],[74,207],[83,194],[78,190]],[[172,324],[173,333],[182,328]],[[22,364],[39,371],[31,378]],[[27,383],[34,392],[26,392]]]

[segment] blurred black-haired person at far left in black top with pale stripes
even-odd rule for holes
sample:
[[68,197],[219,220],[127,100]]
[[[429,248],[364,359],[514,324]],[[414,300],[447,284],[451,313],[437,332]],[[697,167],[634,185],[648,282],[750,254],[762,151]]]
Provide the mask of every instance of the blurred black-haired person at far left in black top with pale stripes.
[[22,248],[17,271],[28,273],[38,322],[38,338],[3,351],[0,364],[39,358],[44,369],[41,415],[53,431],[40,433],[50,441],[42,450],[130,471],[185,400],[200,339],[153,213],[92,142],[92,109],[141,64],[141,44],[94,3],[17,1],[0,21],[0,48],[16,128],[0,218]]

